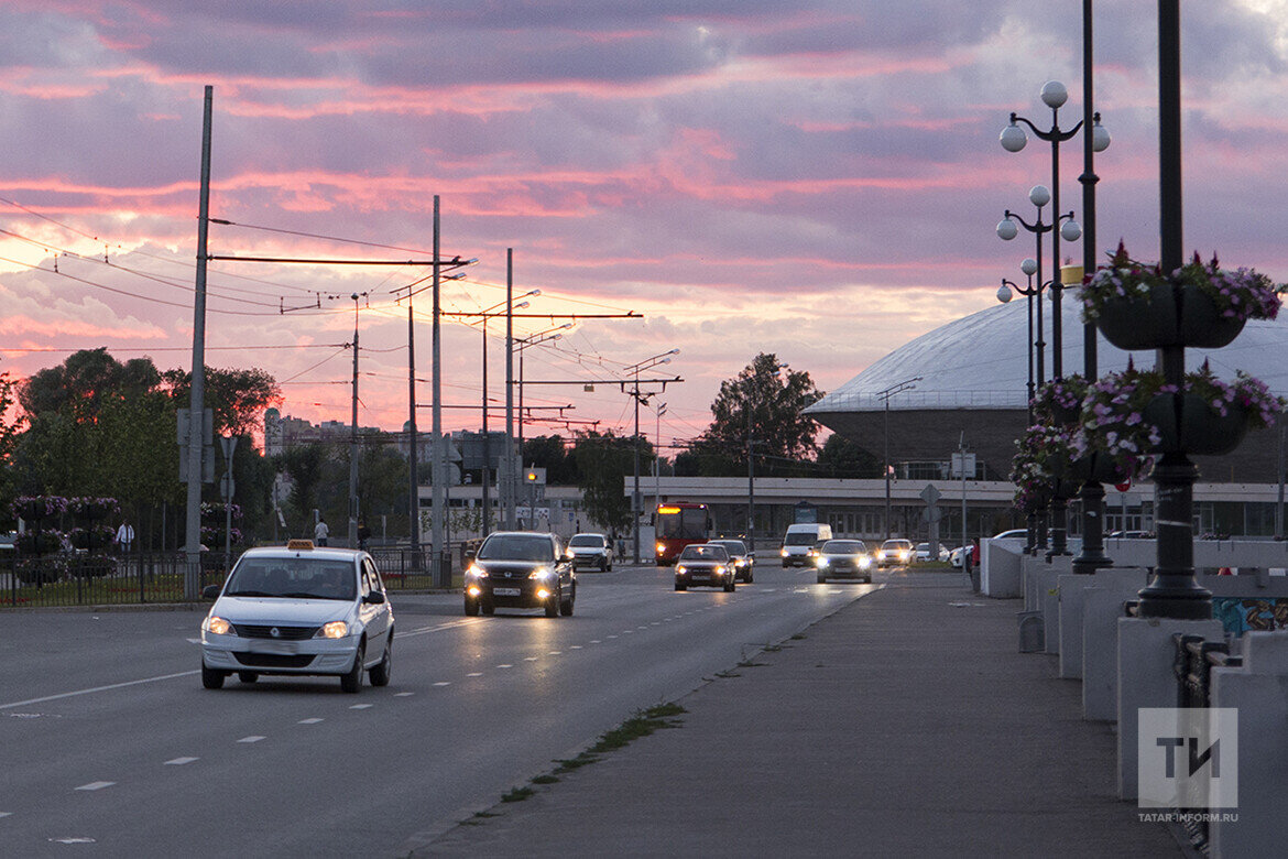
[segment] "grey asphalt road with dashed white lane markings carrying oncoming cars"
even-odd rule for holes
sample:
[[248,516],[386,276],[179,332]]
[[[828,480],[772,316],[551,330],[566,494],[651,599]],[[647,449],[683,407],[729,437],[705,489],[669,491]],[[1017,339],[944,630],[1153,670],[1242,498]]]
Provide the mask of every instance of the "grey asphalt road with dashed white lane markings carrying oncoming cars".
[[4,614],[0,854],[406,854],[872,587],[762,565],[681,594],[644,567],[581,576],[571,618],[394,592],[393,683],[357,695],[204,690],[197,612]]

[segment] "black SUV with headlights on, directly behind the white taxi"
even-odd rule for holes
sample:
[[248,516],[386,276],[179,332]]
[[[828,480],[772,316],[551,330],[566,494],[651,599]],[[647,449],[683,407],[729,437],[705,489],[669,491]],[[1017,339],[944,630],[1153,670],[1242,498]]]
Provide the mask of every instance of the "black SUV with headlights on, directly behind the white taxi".
[[489,534],[465,571],[465,613],[541,608],[546,617],[572,614],[577,574],[559,538],[531,531]]

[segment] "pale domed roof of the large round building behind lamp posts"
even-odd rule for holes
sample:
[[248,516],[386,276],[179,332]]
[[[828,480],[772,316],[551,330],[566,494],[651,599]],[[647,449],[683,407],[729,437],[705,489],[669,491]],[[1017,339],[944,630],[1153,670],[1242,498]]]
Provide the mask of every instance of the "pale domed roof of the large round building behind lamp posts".
[[[1065,295],[1061,305],[1064,372],[1081,373],[1081,303]],[[1046,379],[1050,380],[1050,301],[1045,309]],[[880,411],[885,407],[885,401],[877,397],[880,392],[916,376],[921,380],[914,389],[890,397],[891,411],[1024,408],[1027,341],[1028,300],[1021,296],[954,319],[899,346],[805,411],[815,416]],[[1128,353],[1109,345],[1099,332],[1097,344],[1100,375],[1126,368]],[[1130,354],[1139,366],[1154,364],[1153,350]],[[1265,381],[1273,392],[1288,394],[1288,314],[1276,321],[1249,322],[1243,334],[1224,349],[1186,349],[1185,355],[1188,368],[1197,368],[1208,361],[1212,371],[1222,379],[1233,379],[1236,370],[1243,370]]]

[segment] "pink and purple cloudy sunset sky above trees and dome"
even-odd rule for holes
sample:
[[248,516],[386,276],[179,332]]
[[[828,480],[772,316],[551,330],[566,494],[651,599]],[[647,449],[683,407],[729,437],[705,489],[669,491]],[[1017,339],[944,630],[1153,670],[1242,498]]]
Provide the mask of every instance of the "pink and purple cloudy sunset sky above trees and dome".
[[[1081,117],[1081,6],[5,0],[0,370],[23,376],[97,346],[189,366],[211,84],[214,216],[428,250],[440,194],[444,252],[479,260],[444,287],[446,308],[501,301],[514,247],[516,291],[542,290],[529,310],[641,313],[532,349],[528,377],[617,377],[679,348],[665,370],[685,381],[662,398],[662,435],[692,438],[719,382],[756,352],[832,390],[996,303],[1032,245],[993,228],[1009,206],[1032,214],[1028,188],[1050,182],[1047,148],[1010,155],[997,135],[1012,109],[1050,118],[1038,100],[1050,79],[1070,90],[1061,122]],[[1288,3],[1182,6],[1186,242],[1288,279]],[[1097,161],[1100,243],[1123,237],[1149,259],[1155,5],[1097,0],[1096,14],[1097,108],[1113,134]],[[1063,202],[1077,209],[1081,146],[1064,152]],[[408,256],[219,225],[210,250]],[[278,307],[367,292],[361,422],[399,428],[407,325],[390,290],[421,274],[211,264],[207,363],[263,367],[283,382],[285,413],[346,421],[350,355],[337,344],[352,303]],[[425,316],[416,337],[428,379]],[[444,326],[446,403],[478,402],[479,344],[477,330]],[[501,341],[491,355],[504,403]],[[630,428],[612,385],[529,389],[528,402]],[[452,410],[446,424],[477,428],[478,413]]]

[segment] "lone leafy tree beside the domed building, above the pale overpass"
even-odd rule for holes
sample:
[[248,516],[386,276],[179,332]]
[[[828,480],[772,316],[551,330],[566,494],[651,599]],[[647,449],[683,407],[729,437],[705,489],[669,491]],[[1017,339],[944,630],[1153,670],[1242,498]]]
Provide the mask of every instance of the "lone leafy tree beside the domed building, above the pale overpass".
[[819,425],[804,412],[823,392],[808,372],[782,370],[778,355],[762,352],[737,377],[720,382],[711,403],[715,420],[696,442],[699,462],[724,467],[732,461],[746,473],[748,433],[762,474],[792,473],[793,462],[813,458]]

